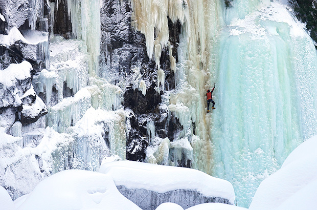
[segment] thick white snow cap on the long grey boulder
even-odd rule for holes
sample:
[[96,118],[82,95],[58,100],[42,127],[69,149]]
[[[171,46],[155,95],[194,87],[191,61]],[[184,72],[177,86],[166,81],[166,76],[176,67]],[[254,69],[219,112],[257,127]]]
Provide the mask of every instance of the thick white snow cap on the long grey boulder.
[[156,165],[135,161],[102,162],[99,172],[110,174],[117,186],[143,188],[157,193],[193,190],[206,197],[221,197],[234,203],[229,181],[185,167]]

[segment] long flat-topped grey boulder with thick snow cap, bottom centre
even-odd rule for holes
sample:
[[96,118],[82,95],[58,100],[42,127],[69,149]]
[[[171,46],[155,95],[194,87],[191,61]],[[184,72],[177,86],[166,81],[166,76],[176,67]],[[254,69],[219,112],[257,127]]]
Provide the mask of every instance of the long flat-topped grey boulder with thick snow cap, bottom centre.
[[134,161],[105,162],[99,172],[110,174],[121,194],[142,209],[173,202],[183,208],[207,202],[233,204],[230,182],[184,167]]

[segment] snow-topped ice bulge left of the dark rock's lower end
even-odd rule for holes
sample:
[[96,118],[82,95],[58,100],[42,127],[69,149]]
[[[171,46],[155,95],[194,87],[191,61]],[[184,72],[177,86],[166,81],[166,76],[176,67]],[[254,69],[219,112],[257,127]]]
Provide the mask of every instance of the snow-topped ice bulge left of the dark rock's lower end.
[[[125,118],[123,110],[88,109],[78,124],[69,129],[75,139],[75,158],[80,157],[80,162],[75,162],[74,166],[77,164],[76,168],[98,171],[105,156],[117,155],[125,159]],[[92,145],[96,147],[92,148]]]

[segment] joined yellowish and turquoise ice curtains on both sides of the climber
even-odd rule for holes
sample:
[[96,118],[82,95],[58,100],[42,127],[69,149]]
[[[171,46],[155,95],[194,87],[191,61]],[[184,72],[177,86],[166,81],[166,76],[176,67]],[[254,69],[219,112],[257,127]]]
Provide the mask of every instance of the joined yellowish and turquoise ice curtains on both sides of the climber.
[[[183,126],[193,123],[192,167],[230,180],[239,205],[247,206],[260,181],[315,134],[312,40],[285,6],[271,1],[237,0],[225,9],[220,1],[133,0],[132,8],[132,24],[156,62],[169,47],[166,17],[182,24],[169,111]],[[217,109],[206,115],[214,82]],[[180,104],[184,116],[173,110]]]

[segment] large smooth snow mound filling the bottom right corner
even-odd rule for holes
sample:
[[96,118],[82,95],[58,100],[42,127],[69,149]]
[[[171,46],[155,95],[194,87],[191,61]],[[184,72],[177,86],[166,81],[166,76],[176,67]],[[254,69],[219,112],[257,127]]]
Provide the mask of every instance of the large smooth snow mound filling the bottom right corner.
[[298,146],[259,186],[250,210],[316,209],[317,136]]

